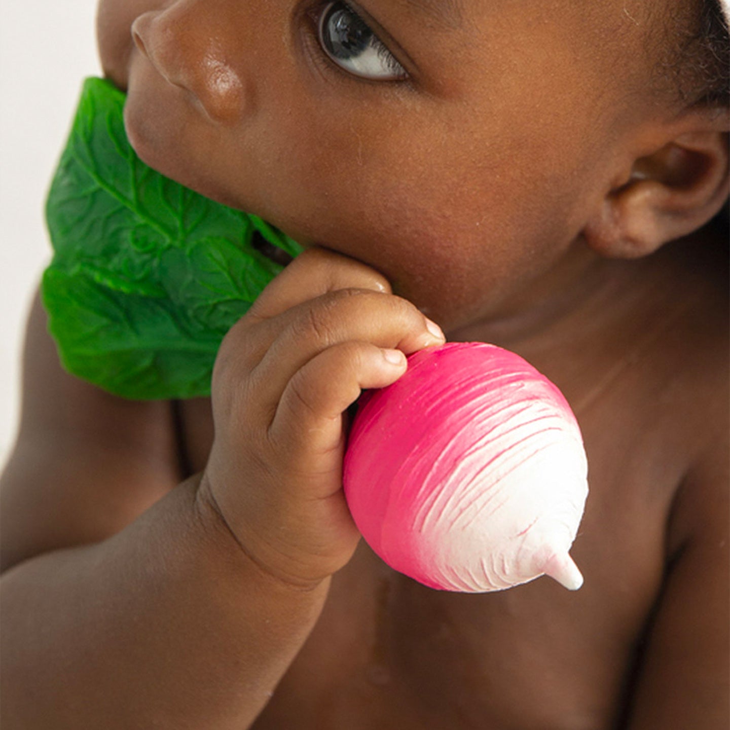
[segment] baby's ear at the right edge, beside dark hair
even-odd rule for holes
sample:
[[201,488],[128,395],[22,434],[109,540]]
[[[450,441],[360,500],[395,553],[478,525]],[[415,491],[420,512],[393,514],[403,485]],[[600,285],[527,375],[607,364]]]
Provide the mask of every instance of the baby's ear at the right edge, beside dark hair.
[[[693,110],[653,128],[583,231],[611,258],[637,258],[704,226],[730,192],[727,110]],[[636,141],[636,140],[634,140]]]

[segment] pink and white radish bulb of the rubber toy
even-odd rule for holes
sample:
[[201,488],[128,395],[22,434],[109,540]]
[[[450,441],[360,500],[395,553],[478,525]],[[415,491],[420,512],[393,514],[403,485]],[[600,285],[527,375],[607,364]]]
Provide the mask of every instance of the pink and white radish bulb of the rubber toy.
[[553,383],[515,353],[449,343],[361,399],[344,488],[372,550],[424,585],[498,591],[546,574],[575,590],[587,468]]

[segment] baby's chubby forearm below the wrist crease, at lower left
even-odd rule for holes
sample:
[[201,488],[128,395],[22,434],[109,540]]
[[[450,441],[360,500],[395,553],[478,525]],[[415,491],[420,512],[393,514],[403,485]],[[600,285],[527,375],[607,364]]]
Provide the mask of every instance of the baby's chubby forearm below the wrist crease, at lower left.
[[2,580],[2,721],[55,730],[250,726],[307,638],[328,581],[263,575],[174,489],[96,545]]

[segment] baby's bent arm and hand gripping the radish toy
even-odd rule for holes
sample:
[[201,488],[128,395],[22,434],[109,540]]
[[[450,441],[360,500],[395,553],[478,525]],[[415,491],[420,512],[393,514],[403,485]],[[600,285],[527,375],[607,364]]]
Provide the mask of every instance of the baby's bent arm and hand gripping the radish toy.
[[4,727],[250,726],[358,539],[340,413],[403,372],[381,348],[439,342],[387,292],[321,251],[286,269],[223,343],[212,457],[177,486],[169,407],[67,377],[34,312],[3,485]]

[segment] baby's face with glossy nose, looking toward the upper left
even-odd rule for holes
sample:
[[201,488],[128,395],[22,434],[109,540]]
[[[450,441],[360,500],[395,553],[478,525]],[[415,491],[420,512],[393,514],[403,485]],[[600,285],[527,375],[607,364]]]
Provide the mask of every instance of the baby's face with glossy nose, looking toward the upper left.
[[99,42],[148,164],[453,328],[560,261],[607,192],[639,113],[604,50],[639,47],[623,4],[101,0]]

